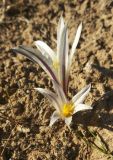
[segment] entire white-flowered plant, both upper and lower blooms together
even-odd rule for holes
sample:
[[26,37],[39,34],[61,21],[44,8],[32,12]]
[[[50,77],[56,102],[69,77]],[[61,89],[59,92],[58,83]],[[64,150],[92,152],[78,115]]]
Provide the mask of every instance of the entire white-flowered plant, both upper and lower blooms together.
[[38,63],[52,79],[56,93],[47,89],[35,88],[37,91],[47,96],[56,109],[51,117],[50,126],[52,126],[59,118],[65,120],[65,123],[69,126],[73,114],[78,111],[92,109],[91,106],[83,104],[85,97],[90,91],[91,85],[83,88],[71,101],[67,99],[69,70],[80,38],[81,30],[82,23],[77,29],[70,54],[68,53],[67,25],[64,24],[62,17],[60,18],[57,29],[57,53],[42,41],[35,42],[37,49],[26,46],[19,46],[13,49],[14,52],[23,54],[33,62]]

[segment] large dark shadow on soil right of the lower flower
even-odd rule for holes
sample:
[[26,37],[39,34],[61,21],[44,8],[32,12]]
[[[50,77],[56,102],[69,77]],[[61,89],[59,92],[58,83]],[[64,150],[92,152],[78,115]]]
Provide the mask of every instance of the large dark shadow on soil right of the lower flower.
[[113,131],[113,90],[105,93],[92,106],[93,110],[78,112],[73,116],[72,128],[81,124],[84,127],[95,126]]

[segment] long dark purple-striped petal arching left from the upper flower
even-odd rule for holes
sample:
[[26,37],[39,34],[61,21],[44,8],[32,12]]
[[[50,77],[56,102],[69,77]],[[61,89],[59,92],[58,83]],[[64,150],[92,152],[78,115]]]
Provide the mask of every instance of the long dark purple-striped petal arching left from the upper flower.
[[13,51],[25,55],[31,61],[38,63],[52,79],[58,81],[55,75],[55,71],[50,66],[48,59],[44,57],[40,53],[40,51],[25,46],[19,46],[18,48],[13,48]]

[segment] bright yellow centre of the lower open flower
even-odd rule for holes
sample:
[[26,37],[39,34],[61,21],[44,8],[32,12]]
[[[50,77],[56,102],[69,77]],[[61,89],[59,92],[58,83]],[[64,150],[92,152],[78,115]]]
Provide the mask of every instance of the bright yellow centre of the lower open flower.
[[74,112],[74,105],[72,103],[66,103],[63,105],[62,113],[65,117],[70,117]]

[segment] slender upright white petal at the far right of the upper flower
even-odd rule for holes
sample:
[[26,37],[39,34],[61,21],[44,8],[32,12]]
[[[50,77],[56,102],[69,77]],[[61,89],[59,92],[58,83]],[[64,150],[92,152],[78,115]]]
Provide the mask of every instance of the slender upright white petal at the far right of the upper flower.
[[81,31],[82,31],[82,23],[80,23],[80,25],[78,26],[76,36],[75,36],[75,39],[74,39],[74,42],[73,42],[73,45],[72,45],[72,48],[71,48],[70,60],[69,60],[70,65],[72,63],[72,58],[73,58],[73,55],[76,51],[76,47],[77,47],[79,39],[80,39]]

